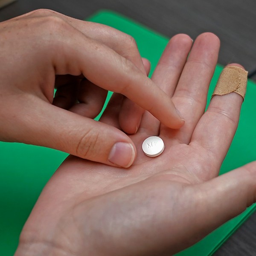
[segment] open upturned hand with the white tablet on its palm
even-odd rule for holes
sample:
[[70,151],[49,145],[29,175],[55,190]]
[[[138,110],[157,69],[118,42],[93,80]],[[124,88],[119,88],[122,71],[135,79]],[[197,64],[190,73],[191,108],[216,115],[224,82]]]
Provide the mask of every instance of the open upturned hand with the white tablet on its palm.
[[[236,93],[214,96],[204,113],[219,40],[200,35],[186,61],[191,46],[188,36],[173,37],[152,77],[185,125],[173,130],[145,112],[131,136],[138,155],[128,170],[69,157],[32,210],[16,256],[172,255],[255,201],[256,162],[216,177],[243,102]],[[116,127],[118,99],[102,117]],[[141,149],[152,135],[165,143],[155,158]]]

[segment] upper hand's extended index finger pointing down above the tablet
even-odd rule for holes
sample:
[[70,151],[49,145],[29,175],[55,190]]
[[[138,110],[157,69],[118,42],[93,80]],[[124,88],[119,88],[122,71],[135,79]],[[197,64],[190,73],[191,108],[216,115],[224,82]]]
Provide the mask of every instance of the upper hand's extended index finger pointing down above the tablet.
[[49,42],[57,75],[69,73],[77,76],[82,73],[99,87],[122,93],[164,125],[170,128],[183,125],[184,121],[180,119],[169,96],[131,61],[104,44],[87,38],[67,23],[62,23],[62,28],[61,40],[57,35],[53,42]]

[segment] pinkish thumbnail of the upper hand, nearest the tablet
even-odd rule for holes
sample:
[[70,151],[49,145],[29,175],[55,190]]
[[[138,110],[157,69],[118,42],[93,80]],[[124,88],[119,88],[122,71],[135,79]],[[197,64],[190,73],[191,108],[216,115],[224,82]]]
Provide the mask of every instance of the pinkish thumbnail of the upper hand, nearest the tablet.
[[129,167],[134,161],[135,151],[130,143],[117,142],[111,148],[108,161],[121,167]]

